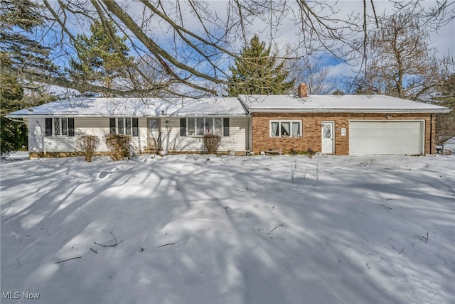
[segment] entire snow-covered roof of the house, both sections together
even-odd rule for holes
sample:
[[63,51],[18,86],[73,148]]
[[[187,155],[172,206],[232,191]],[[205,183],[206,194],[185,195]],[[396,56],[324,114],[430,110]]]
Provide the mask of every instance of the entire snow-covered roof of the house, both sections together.
[[254,112],[450,112],[446,107],[385,95],[239,95],[212,98],[70,98],[7,115],[28,116],[246,116]]

